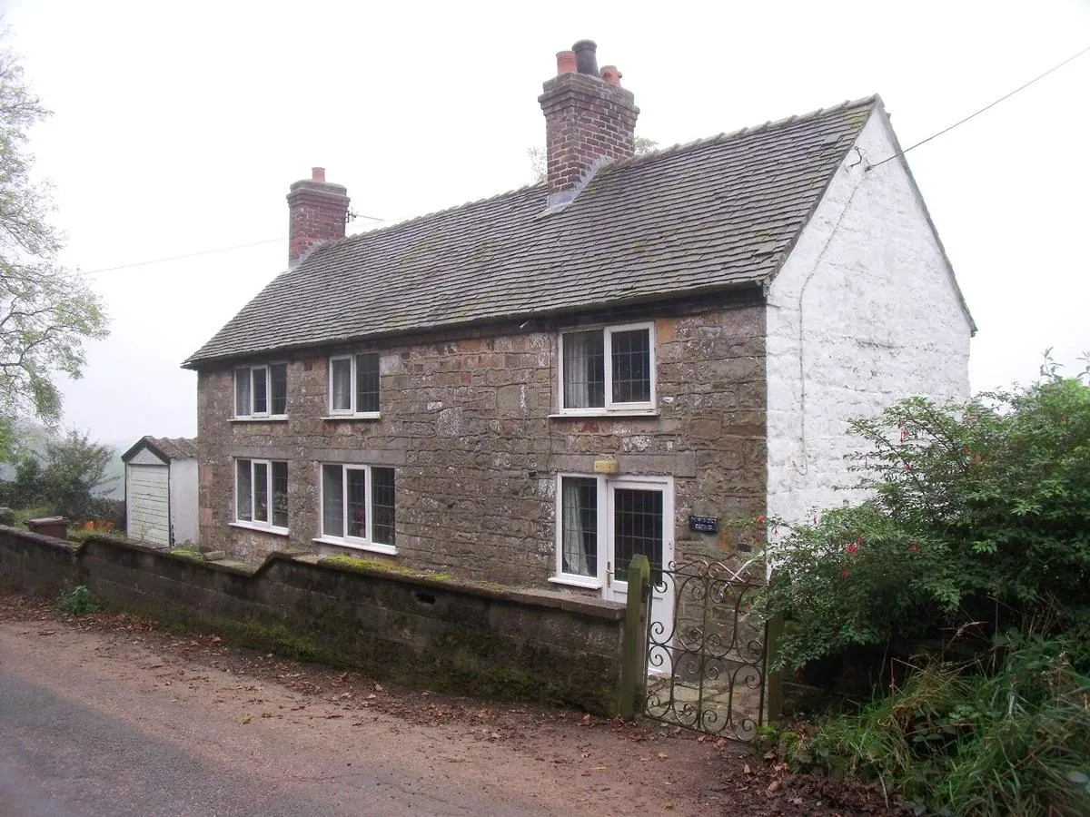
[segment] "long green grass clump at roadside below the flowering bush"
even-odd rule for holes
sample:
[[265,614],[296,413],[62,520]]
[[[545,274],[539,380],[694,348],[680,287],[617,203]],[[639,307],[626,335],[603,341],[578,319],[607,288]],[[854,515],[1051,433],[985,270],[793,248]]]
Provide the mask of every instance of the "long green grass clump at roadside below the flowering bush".
[[918,669],[858,714],[825,719],[791,759],[880,780],[921,814],[1090,814],[1088,642],[1015,642],[994,673]]

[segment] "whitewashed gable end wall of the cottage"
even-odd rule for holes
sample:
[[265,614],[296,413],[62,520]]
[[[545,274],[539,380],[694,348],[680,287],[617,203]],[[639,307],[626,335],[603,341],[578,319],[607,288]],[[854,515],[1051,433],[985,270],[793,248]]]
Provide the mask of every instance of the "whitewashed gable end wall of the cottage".
[[768,513],[841,504],[851,417],[969,394],[971,325],[876,110],[768,291]]

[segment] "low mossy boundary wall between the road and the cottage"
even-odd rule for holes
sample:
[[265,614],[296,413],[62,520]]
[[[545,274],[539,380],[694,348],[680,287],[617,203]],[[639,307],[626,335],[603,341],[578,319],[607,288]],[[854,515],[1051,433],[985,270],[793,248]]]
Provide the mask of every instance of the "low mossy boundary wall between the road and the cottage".
[[407,685],[613,715],[625,608],[464,585],[359,559],[272,553],[256,571],[0,526],[0,592],[77,584],[112,608]]

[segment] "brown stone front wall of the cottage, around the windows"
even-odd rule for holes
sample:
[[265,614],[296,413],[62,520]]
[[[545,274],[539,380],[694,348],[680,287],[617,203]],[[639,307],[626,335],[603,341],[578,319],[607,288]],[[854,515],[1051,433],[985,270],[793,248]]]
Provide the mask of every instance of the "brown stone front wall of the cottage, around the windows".
[[[557,332],[571,324],[372,346],[380,355],[379,419],[323,418],[328,355],[349,350],[288,358],[280,422],[233,420],[232,369],[201,371],[203,541],[246,559],[289,547],[338,550],[313,542],[320,464],[391,465],[398,563],[542,586],[555,572],[556,475],[592,473],[606,458],[620,475],[674,477],[677,558],[731,554],[726,525],[695,534],[687,520],[764,512],[763,307],[710,298],[655,314],[588,316],[583,325],[637,319],[655,321],[653,417],[550,416]],[[231,525],[234,458],[288,461],[289,536]]]

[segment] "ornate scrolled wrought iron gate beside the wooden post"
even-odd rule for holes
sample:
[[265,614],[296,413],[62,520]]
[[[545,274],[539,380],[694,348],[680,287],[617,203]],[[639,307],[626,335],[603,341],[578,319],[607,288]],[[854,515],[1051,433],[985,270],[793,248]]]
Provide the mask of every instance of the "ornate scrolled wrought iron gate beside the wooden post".
[[655,571],[674,598],[671,621],[647,615],[649,718],[736,741],[764,720],[767,631],[750,620],[763,582],[723,562],[673,562]]

